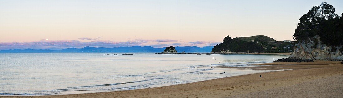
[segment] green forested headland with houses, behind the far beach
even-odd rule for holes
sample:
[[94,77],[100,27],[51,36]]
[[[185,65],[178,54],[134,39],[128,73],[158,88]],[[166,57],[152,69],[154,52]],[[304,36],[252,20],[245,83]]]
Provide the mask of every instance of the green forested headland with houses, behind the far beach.
[[291,42],[276,41],[268,36],[255,35],[250,37],[236,37],[232,39],[226,36],[223,43],[216,45],[212,53],[230,54],[232,52],[290,52]]

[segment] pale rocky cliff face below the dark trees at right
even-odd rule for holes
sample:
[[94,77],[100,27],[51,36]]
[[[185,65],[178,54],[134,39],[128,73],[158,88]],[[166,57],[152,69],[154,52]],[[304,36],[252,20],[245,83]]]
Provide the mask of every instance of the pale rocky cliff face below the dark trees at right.
[[303,40],[294,45],[294,52],[287,59],[343,61],[343,46],[322,44],[316,35],[310,40]]

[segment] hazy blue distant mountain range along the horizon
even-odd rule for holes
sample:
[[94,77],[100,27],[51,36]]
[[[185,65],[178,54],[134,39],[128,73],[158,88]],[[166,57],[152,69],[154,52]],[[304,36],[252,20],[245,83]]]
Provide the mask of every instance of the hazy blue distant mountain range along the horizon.
[[[176,51],[178,52],[186,52],[186,53],[194,53],[194,52],[206,52],[209,53],[212,51],[214,46],[205,46],[205,47],[197,47],[197,46],[183,46],[183,47],[175,47]],[[35,49],[14,49],[14,50],[1,50],[0,53],[102,53],[102,52],[150,52],[150,53],[160,53],[163,52],[163,48],[154,48],[151,46],[126,46],[126,47],[113,47],[113,48],[105,48],[105,47],[90,47],[86,46],[84,48],[66,48],[62,50],[35,50]]]

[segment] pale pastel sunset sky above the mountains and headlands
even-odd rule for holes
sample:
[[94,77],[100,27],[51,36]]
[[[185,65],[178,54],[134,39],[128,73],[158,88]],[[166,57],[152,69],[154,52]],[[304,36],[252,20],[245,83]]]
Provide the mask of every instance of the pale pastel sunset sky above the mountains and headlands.
[[321,2],[343,13],[342,0],[0,0],[0,50],[293,40],[299,18]]

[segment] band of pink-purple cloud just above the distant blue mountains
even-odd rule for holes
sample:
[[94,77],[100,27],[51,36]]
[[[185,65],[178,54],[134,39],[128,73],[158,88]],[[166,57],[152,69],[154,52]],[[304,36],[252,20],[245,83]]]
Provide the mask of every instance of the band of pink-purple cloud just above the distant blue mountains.
[[129,40],[125,42],[115,42],[109,40],[91,40],[90,42],[81,42],[77,40],[42,40],[34,42],[0,42],[0,50],[8,49],[64,49],[64,48],[83,48],[85,46],[92,47],[120,47],[120,46],[153,46],[153,47],[167,47],[167,46],[208,46],[219,44],[217,42],[205,42],[205,41],[196,41],[188,43],[175,43],[177,40]]

